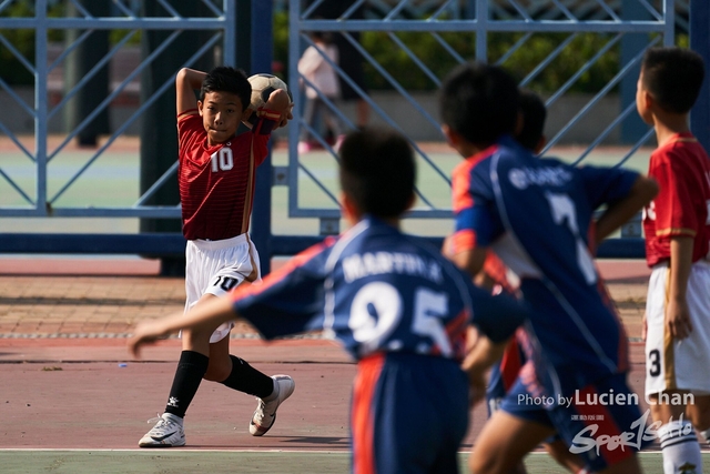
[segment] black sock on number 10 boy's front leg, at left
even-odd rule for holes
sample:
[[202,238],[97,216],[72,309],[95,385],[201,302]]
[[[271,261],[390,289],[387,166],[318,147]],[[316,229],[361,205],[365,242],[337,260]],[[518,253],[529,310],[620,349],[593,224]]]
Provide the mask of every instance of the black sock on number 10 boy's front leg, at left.
[[182,351],[173,386],[170,387],[170,399],[165,406],[165,413],[172,413],[181,418],[185,417],[187,406],[197,393],[200,382],[207,371],[210,357],[194,351]]

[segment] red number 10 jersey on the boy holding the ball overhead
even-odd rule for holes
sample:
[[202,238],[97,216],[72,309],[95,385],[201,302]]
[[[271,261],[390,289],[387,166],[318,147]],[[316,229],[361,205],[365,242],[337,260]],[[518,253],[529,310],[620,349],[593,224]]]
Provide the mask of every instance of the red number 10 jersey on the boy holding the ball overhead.
[[256,167],[268,153],[270,137],[254,127],[226,143],[209,147],[199,114],[178,119],[185,239],[222,240],[248,230]]

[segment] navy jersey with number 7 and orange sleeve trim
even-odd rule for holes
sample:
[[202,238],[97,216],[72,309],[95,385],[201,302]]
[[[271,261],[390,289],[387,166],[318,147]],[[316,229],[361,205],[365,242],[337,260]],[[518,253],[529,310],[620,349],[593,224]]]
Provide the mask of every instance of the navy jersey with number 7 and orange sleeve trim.
[[454,174],[456,251],[490,246],[520,276],[529,349],[544,385],[567,389],[628,369],[627,340],[589,252],[594,211],[638,174],[539,159],[505,138]]

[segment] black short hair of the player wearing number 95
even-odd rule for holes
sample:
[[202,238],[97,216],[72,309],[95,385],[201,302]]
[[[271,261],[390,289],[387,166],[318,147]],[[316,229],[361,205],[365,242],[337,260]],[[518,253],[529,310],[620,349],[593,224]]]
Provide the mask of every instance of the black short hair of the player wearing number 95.
[[412,203],[414,151],[399,133],[364,128],[348,133],[339,149],[341,188],[361,212],[396,218]]

